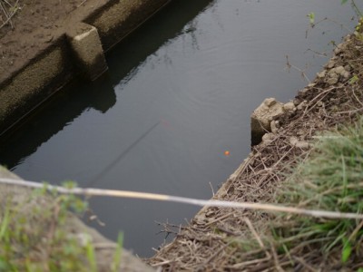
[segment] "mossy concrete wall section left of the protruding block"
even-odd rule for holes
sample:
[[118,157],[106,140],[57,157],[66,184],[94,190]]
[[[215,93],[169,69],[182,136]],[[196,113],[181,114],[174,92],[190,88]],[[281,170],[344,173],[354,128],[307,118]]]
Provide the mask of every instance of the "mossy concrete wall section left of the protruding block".
[[0,86],[0,135],[67,83],[74,73],[77,72],[69,47],[59,38]]

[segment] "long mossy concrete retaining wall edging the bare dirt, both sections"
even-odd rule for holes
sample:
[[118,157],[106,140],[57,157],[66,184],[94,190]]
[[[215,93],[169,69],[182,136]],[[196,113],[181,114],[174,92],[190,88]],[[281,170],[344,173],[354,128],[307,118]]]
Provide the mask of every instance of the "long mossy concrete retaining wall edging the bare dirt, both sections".
[[[54,33],[53,40],[46,44],[42,52],[38,53],[25,65],[12,73],[9,78],[0,83],[0,136],[16,126],[18,121],[25,118],[39,104],[49,98],[54,92],[60,90],[76,76],[83,75],[86,79],[93,80],[106,69],[95,67],[94,63],[104,62],[103,53],[114,44],[120,42],[123,37],[130,34],[150,16],[155,14],[170,0],[112,0],[99,1],[98,6],[90,9],[89,15],[82,18],[81,22],[95,27],[100,40],[99,52],[94,51],[92,65],[84,65],[82,58],[74,52],[72,39],[81,33],[69,34],[74,30],[72,18],[68,26],[64,26],[59,33]],[[75,13],[77,10],[74,11]],[[72,17],[72,16],[71,16]],[[79,16],[74,16],[79,18]],[[89,31],[85,27],[84,31]],[[70,38],[71,37],[71,38]],[[91,40],[92,41],[92,40]],[[93,40],[94,41],[94,40]],[[83,50],[90,52],[92,44],[83,43]],[[82,50],[82,48],[81,48]],[[84,55],[84,53],[83,53]],[[94,62],[94,60],[97,60]]]

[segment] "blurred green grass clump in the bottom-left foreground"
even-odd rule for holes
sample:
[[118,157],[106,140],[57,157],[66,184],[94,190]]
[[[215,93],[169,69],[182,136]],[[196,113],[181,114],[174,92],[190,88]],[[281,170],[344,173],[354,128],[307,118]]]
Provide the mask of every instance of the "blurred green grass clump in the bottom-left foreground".
[[[46,186],[28,192],[24,199],[16,194],[0,199],[0,271],[97,271],[93,238],[74,232],[71,223],[70,211],[83,213],[86,202],[74,195],[49,195]],[[120,257],[114,261],[115,271]]]

